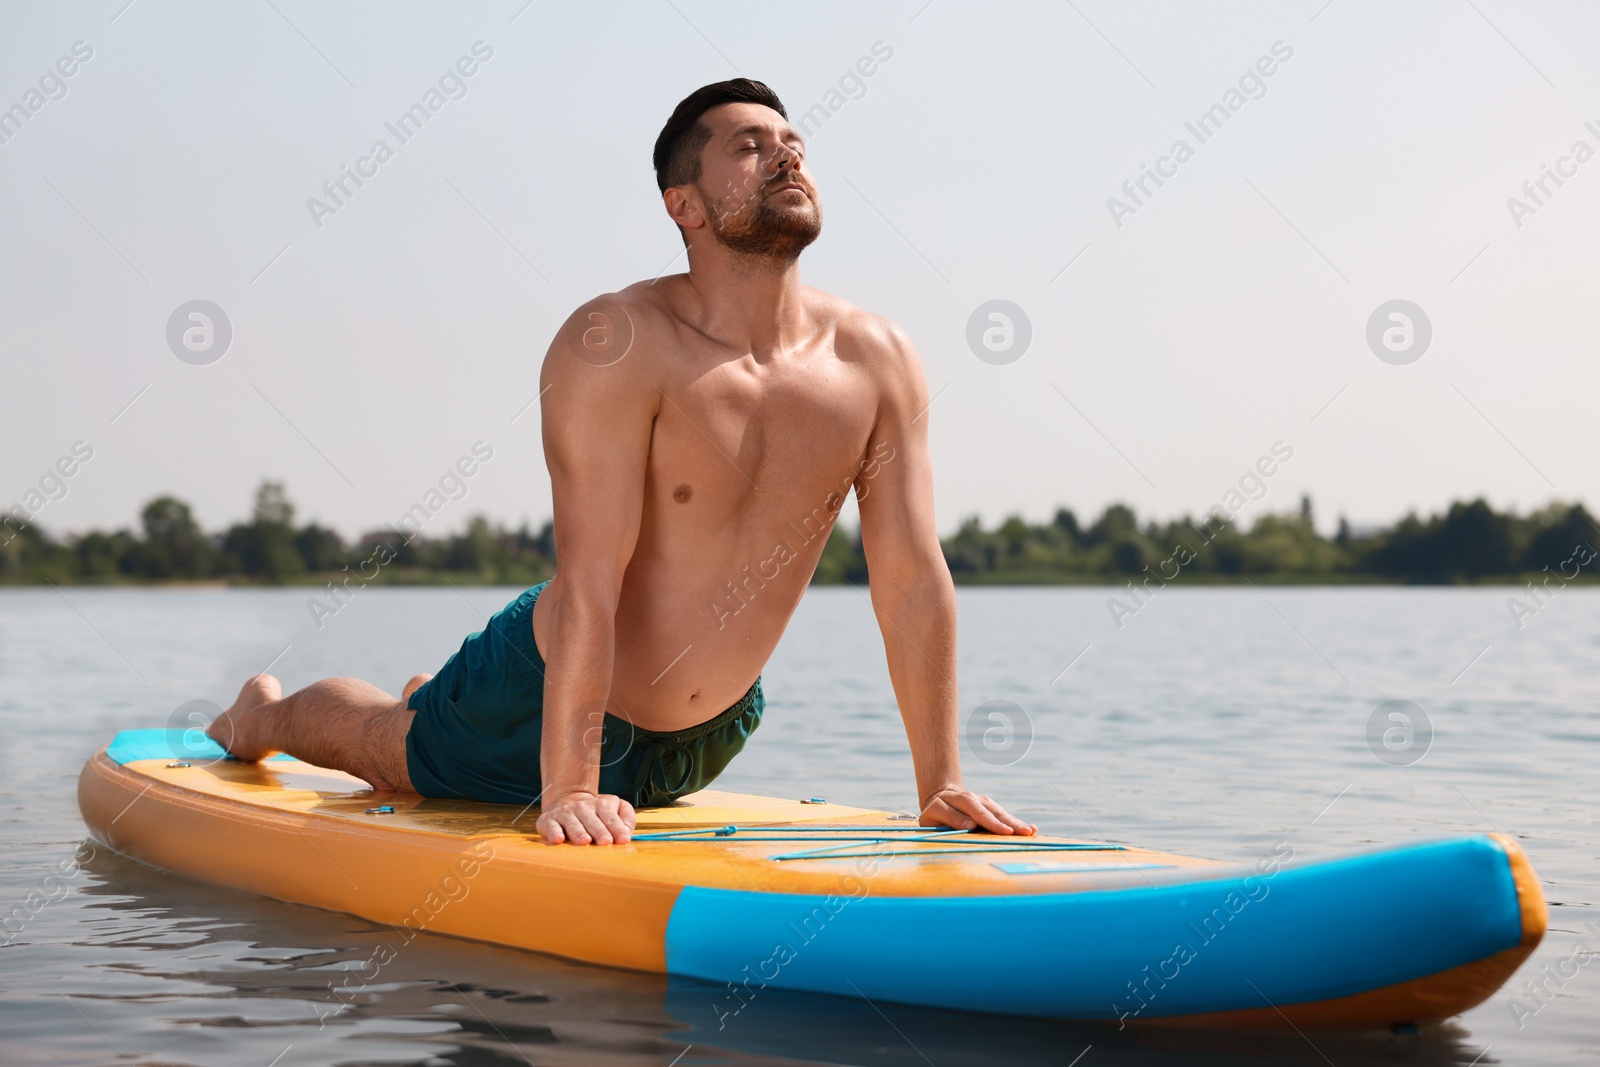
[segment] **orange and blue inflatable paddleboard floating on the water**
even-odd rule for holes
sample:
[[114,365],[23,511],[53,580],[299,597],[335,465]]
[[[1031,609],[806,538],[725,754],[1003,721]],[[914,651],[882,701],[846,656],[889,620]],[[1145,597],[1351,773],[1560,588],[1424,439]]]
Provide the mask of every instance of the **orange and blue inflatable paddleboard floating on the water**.
[[[712,982],[1118,1024],[1330,1030],[1445,1019],[1533,952],[1515,841],[1221,862],[704,790],[629,845],[547,846],[538,809],[374,792],[198,731],[126,729],[78,777],[94,840],[202,881]],[[710,1022],[710,1019],[707,1019]]]

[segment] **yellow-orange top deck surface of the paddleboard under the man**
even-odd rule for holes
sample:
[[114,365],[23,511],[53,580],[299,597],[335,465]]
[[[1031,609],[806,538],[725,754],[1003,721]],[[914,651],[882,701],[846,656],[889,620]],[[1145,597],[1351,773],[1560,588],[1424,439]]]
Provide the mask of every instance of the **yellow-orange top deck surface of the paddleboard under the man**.
[[[184,753],[182,758],[166,755],[178,752]],[[162,731],[123,731],[118,742],[107,749],[107,755],[128,771],[163,785],[259,811],[326,816],[347,821],[363,832],[486,838],[494,841],[496,854],[517,854],[534,865],[554,862],[565,872],[576,864],[595,875],[611,873],[614,869],[618,877],[658,880],[674,888],[701,885],[850,893],[854,886],[850,878],[859,877],[864,867],[872,867],[874,891],[880,894],[1014,894],[1150,885],[1168,877],[1163,872],[1195,867],[1234,870],[1229,864],[1149,849],[1109,846],[1099,851],[1096,841],[1050,837],[1005,840],[994,835],[976,841],[962,835],[965,840],[960,845],[899,840],[888,846],[862,840],[859,848],[845,849],[846,854],[838,859],[822,854],[814,859],[773,859],[810,851],[808,838],[794,840],[800,833],[814,835],[814,846],[821,848],[837,843],[840,835],[890,837],[888,832],[874,835],[858,832],[856,827],[893,827],[896,838],[922,837],[926,829],[915,821],[894,825],[901,821],[886,811],[814,803],[814,798],[781,800],[720,790],[693,793],[667,808],[642,809],[637,822],[642,837],[624,848],[587,849],[582,854],[574,854],[576,849],[552,853],[534,830],[538,808],[374,792],[358,777],[293,757],[240,763],[227,758],[219,747],[179,739],[171,733],[162,736]],[[387,811],[374,811],[378,808]],[[730,825],[738,830],[723,837],[648,840],[651,833],[683,835],[688,830]],[[779,827],[795,830],[779,832]],[[826,827],[835,827],[840,835],[829,835]],[[1069,845],[1086,851],[1058,848]],[[955,849],[966,849],[970,854]],[[1018,861],[1035,861],[1029,849],[1050,862],[1018,865]]]

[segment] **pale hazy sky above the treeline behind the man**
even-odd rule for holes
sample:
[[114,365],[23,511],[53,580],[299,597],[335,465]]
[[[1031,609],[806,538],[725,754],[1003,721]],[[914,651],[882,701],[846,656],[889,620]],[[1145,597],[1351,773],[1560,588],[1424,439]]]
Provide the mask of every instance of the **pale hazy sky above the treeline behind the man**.
[[[85,442],[53,531],[160,493],[214,530],[270,477],[354,534],[475,442],[427,533],[544,522],[539,360],[578,304],[683,269],[650,149],[736,74],[827,114],[802,277],[917,342],[942,533],[1198,514],[1277,442],[1253,512],[1310,493],[1325,530],[1600,506],[1600,5],[125,5],[0,8],[0,507]],[[205,365],[168,346],[194,299],[232,326]],[[966,339],[995,299],[1032,333],[1002,365]],[[1395,299],[1432,326],[1406,365],[1366,341]]]

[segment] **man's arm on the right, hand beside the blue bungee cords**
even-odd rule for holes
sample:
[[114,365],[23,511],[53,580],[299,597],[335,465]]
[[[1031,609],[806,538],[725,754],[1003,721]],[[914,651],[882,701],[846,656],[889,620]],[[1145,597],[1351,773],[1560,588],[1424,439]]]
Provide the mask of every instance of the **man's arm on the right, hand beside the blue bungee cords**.
[[989,797],[962,789],[955,691],[955,585],[933,517],[928,384],[906,331],[883,323],[878,421],[856,475],[861,544],[890,681],[917,769],[922,825],[1034,833]]

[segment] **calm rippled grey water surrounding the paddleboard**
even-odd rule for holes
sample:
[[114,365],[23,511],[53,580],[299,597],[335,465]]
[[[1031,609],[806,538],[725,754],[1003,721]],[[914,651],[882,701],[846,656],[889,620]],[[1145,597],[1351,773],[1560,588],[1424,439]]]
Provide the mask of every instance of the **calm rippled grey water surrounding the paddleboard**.
[[[350,1006],[330,984],[387,926],[86,845],[77,774],[117,729],[168,725],[189,701],[226,704],[267,664],[286,686],[346,673],[398,691],[515,592],[368,589],[320,630],[306,590],[0,592],[0,913],[13,917],[0,933],[0,1062],[1600,1057],[1600,958],[1574,961],[1584,939],[1600,949],[1600,590],[1560,590],[1520,629],[1510,589],[1168,589],[1120,619],[1106,589],[958,593],[963,718],[982,715],[968,785],[1046,832],[1245,861],[1280,841],[1322,856],[1490,829],[1520,840],[1550,933],[1506,990],[1419,1035],[1117,1032],[770,990],[718,1030],[693,984],[434,934]],[[811,590],[765,683],[766,720],[718,787],[914,806],[864,593]]]

